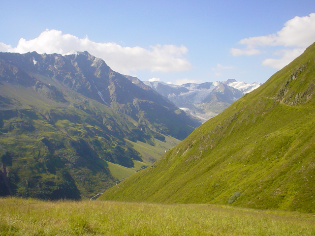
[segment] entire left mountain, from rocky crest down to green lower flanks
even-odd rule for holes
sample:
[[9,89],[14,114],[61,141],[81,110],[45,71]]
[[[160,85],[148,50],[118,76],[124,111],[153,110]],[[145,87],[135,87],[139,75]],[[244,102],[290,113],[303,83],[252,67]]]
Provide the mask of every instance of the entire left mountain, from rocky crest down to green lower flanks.
[[91,197],[198,125],[88,52],[0,53],[0,195]]

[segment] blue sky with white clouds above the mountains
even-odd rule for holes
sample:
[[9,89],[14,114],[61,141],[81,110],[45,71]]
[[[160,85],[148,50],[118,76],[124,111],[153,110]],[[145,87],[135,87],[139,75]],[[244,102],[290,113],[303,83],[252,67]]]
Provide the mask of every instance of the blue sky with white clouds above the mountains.
[[88,51],[181,85],[264,83],[315,42],[314,0],[1,0],[0,51]]

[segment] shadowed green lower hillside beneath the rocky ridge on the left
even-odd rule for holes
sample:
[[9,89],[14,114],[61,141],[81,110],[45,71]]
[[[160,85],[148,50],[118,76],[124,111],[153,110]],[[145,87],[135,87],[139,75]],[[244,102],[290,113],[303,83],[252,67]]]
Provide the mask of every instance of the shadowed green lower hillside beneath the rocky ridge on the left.
[[[21,86],[0,89],[0,195],[92,197],[179,142],[161,134],[164,142],[137,141],[135,120],[78,94],[55,103]],[[23,103],[12,109],[4,97]],[[137,151],[148,147],[154,151]]]

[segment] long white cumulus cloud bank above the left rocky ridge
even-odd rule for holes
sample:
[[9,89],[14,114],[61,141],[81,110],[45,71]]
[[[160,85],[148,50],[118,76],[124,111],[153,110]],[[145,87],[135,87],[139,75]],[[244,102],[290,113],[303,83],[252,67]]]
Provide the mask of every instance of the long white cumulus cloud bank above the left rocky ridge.
[[16,47],[0,43],[0,51],[27,53],[63,54],[71,50],[88,51],[104,61],[115,71],[130,74],[132,71],[149,69],[152,72],[185,71],[192,68],[184,58],[188,49],[185,46],[156,45],[150,49],[141,47],[122,47],[117,43],[97,43],[87,36],[78,38],[71,34],[63,34],[59,30],[43,31],[37,38],[26,40],[21,38]]

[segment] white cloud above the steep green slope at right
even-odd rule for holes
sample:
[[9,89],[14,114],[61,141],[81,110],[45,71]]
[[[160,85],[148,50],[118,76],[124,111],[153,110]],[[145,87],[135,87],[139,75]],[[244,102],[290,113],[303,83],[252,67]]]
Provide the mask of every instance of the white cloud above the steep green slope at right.
[[[280,59],[265,59],[262,64],[273,68],[281,69],[293,59],[300,55],[306,47],[315,41],[315,13],[310,16],[294,17],[284,24],[284,28],[274,34],[244,38],[239,41],[246,45],[246,48],[232,48],[230,53],[233,56],[252,56],[261,53],[257,47],[277,46],[284,48],[277,51],[274,55]],[[291,49],[285,49],[291,47]],[[293,48],[293,49],[292,49]]]

